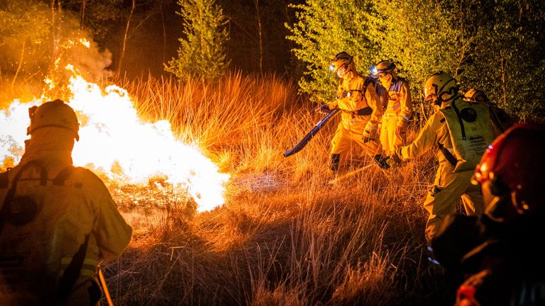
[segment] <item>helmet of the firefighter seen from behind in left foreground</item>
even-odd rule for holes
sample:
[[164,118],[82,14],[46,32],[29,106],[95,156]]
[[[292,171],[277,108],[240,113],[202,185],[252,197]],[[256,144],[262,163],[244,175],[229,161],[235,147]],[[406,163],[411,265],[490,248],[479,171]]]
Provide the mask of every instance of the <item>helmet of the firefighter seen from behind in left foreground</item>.
[[31,125],[27,129],[27,135],[31,135],[40,128],[55,127],[71,130],[74,132],[74,138],[79,140],[77,135],[79,123],[76,113],[62,100],[57,99],[40,106],[33,106],[28,109],[28,116],[31,118]]

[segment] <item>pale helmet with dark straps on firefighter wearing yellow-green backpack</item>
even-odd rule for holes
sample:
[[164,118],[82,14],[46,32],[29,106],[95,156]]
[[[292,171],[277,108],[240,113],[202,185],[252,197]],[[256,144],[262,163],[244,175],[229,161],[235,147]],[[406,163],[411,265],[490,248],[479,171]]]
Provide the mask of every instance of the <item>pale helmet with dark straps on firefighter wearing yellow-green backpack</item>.
[[424,101],[433,102],[441,105],[442,102],[449,101],[458,94],[458,85],[456,79],[445,72],[436,72],[424,84]]

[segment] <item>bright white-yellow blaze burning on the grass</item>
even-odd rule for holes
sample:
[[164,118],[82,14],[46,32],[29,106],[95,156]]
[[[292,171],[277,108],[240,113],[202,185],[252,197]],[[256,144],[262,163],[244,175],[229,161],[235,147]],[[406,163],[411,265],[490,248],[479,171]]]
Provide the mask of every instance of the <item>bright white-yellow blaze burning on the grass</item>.
[[[127,91],[118,86],[102,90],[82,77],[70,79],[72,93],[66,101],[77,113],[80,128],[72,159],[105,174],[120,184],[146,184],[155,177],[166,178],[178,195],[189,195],[197,210],[211,210],[224,204],[224,183],[229,174],[218,167],[198,147],[175,139],[170,123],[144,122],[136,113]],[[52,98],[28,103],[15,100],[0,111],[0,162],[4,167],[18,163],[24,151],[28,108]],[[161,188],[161,186],[158,186]]]

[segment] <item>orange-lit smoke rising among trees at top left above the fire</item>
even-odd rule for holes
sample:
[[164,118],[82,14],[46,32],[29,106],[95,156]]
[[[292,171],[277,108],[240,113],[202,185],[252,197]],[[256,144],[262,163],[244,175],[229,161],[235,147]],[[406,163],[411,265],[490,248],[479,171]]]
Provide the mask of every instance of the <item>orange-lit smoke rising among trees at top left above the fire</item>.
[[47,78],[62,86],[72,74],[65,69],[69,64],[88,81],[111,77],[111,52],[101,48],[89,30],[80,28],[74,12],[53,13],[38,1],[14,2],[18,1],[0,6],[0,77]]

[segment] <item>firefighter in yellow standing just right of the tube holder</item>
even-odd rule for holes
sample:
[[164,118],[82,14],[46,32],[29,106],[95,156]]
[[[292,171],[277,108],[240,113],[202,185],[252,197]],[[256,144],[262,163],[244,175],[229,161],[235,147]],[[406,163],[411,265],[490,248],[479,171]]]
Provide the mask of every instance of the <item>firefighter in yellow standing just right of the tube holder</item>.
[[373,73],[388,93],[380,124],[380,144],[386,154],[390,155],[407,142],[407,125],[412,116],[411,92],[409,83],[397,77],[394,63],[387,60],[378,62]]

